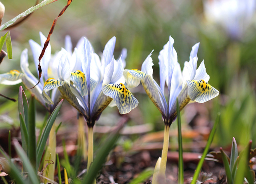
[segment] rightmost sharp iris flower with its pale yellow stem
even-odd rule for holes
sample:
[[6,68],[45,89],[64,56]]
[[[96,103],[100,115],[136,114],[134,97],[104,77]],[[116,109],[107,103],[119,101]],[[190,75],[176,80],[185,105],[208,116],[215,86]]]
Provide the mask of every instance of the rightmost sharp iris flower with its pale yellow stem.
[[[162,114],[165,130],[159,172],[163,176],[165,176],[166,170],[169,129],[177,116],[176,99],[178,99],[180,110],[182,110],[190,100],[204,103],[219,94],[218,90],[208,84],[210,76],[206,73],[204,61],[196,69],[199,43],[192,47],[190,61],[184,63],[183,71],[180,69],[173,44],[174,39],[170,36],[169,41],[164,45],[158,56],[160,86],[152,77],[152,66],[154,65],[151,58],[152,52],[143,62],[141,71],[136,69],[124,71],[126,81],[129,81],[132,87],[137,86],[140,82],[142,83],[149,98]],[[165,95],[164,91],[165,84],[168,87],[167,95]]]

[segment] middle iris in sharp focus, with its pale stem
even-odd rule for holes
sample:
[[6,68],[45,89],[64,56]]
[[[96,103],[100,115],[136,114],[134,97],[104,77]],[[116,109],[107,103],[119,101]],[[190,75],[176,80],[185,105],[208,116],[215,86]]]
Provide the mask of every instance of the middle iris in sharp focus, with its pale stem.
[[[88,168],[93,160],[93,126],[102,111],[112,100],[120,114],[128,113],[138,105],[138,100],[125,86],[122,61],[125,58],[120,56],[117,61],[114,59],[115,42],[115,37],[108,41],[100,60],[90,42],[84,38],[84,43],[76,52],[76,58],[81,58],[80,66],[75,64],[82,71],[70,67],[71,62],[64,53],[58,66],[59,79],[48,79],[43,88],[46,102],[53,103],[46,92],[58,88],[62,96],[84,115],[88,125]],[[126,55],[125,50],[123,53]]]

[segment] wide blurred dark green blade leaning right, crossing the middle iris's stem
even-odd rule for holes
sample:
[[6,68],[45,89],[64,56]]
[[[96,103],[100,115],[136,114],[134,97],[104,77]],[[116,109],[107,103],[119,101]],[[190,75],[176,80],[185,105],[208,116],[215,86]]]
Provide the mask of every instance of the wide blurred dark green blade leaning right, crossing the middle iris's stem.
[[109,152],[112,150],[112,148],[114,148],[114,145],[118,140],[119,131],[120,128],[115,133],[111,133],[106,141],[103,142],[102,146],[100,146],[100,150],[92,162],[92,165],[87,171],[87,174],[82,180],[81,184],[92,184],[94,182],[98,171],[102,168],[102,164],[104,164]]

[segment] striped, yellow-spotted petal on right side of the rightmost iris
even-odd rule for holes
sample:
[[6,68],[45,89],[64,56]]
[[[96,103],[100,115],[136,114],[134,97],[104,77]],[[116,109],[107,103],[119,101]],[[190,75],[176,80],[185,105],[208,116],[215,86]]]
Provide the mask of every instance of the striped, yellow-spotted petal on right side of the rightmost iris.
[[219,92],[204,80],[187,80],[188,95],[192,101],[207,102],[218,96]]

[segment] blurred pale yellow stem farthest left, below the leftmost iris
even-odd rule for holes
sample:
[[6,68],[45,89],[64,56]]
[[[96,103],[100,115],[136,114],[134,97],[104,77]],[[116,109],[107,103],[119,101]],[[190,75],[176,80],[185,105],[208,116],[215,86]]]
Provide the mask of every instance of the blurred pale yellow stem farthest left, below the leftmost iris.
[[[52,129],[49,134],[49,145],[46,150],[45,156],[44,156],[44,167],[46,164],[49,163],[48,159],[50,158],[52,162],[48,165],[48,177],[51,180],[54,180],[54,172],[55,172],[55,164],[56,164],[56,127],[55,123],[52,125]],[[46,169],[44,170],[44,176],[46,176]]]

